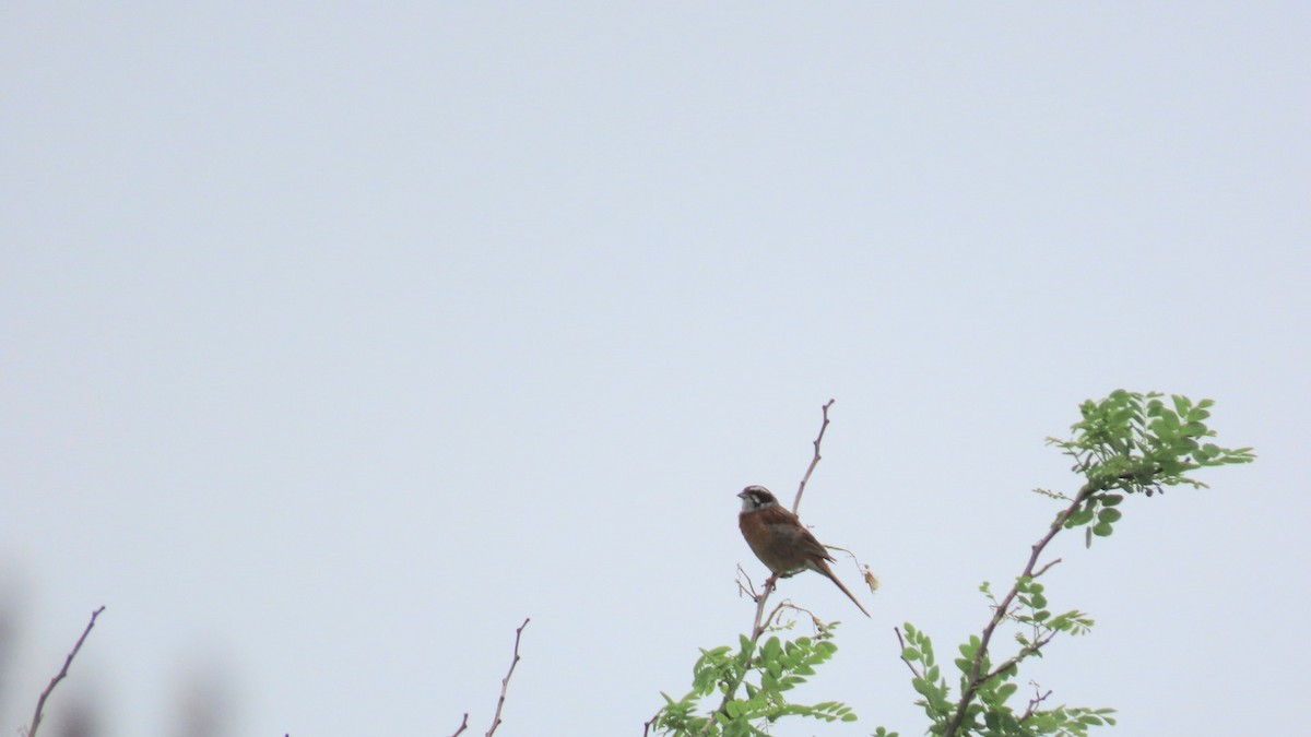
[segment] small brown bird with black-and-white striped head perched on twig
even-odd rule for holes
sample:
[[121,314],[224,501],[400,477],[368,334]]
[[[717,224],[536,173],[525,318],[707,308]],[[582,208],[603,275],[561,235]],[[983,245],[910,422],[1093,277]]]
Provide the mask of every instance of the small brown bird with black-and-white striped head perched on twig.
[[796,514],[788,511],[764,487],[747,487],[738,493],[742,511],[738,513],[738,528],[746,538],[755,557],[776,576],[784,578],[802,570],[814,570],[832,581],[843,594],[856,605],[860,614],[869,616],[842,581],[829,568],[834,557],[829,555],[819,540],[801,525]]

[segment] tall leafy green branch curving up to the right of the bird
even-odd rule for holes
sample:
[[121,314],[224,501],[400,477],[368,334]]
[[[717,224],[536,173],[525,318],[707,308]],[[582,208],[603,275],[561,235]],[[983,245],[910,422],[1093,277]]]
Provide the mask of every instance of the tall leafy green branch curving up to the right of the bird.
[[[1063,530],[1086,527],[1086,544],[1106,538],[1122,518],[1118,509],[1125,494],[1151,497],[1165,487],[1205,484],[1186,473],[1203,467],[1249,463],[1252,448],[1223,448],[1206,438],[1215,433],[1207,428],[1211,400],[1196,404],[1184,396],[1171,396],[1167,403],[1158,392],[1137,393],[1117,389],[1100,401],[1084,401],[1082,420],[1071,426],[1070,439],[1047,438],[1065,455],[1074,459],[1074,471],[1084,484],[1074,497],[1038,489],[1045,496],[1065,501],[1046,532],[1029,551],[1024,569],[1011,589],[999,599],[991,586],[981,586],[991,603],[992,615],[981,635],[960,645],[961,657],[954,665],[961,671],[960,698],[952,699],[947,679],[935,662],[929,637],[907,623],[905,636],[897,629],[902,661],[911,670],[911,686],[920,695],[916,703],[931,720],[929,733],[944,737],[965,734],[1071,734],[1086,736],[1088,728],[1114,724],[1113,709],[1059,706],[1038,708],[1051,695],[1036,694],[1028,707],[1016,713],[1008,699],[1019,690],[1012,679],[1027,658],[1058,635],[1083,635],[1092,628],[1092,619],[1078,610],[1053,614],[1047,606],[1041,578],[1061,559],[1042,561],[1047,544]],[[1019,650],[994,664],[991,645],[998,628],[1009,622],[1019,627]],[[885,732],[880,730],[880,734]]]

